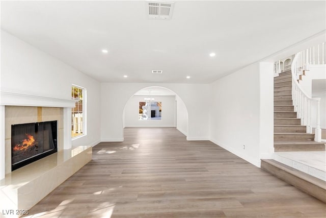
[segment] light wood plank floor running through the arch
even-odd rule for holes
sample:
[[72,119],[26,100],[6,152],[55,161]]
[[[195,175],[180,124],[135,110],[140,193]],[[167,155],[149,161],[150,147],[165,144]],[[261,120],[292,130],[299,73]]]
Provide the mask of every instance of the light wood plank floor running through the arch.
[[30,210],[33,217],[325,217],[326,205],[210,141],[126,128]]

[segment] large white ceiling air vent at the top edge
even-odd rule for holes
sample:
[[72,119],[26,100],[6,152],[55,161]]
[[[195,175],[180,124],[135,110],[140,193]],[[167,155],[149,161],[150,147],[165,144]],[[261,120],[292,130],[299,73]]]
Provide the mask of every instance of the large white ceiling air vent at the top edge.
[[148,18],[169,20],[172,17],[173,2],[148,2]]

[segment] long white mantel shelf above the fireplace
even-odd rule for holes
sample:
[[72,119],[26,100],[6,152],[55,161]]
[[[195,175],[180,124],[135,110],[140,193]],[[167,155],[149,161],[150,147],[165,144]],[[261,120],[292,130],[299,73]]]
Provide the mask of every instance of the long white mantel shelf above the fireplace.
[[21,93],[14,91],[0,91],[0,105],[8,106],[37,106],[74,108],[75,100],[59,99],[51,96]]

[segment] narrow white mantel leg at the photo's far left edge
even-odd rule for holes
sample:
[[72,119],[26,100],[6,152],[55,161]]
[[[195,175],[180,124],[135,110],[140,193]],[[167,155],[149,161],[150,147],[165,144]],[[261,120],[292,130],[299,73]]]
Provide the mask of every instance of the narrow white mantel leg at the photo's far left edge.
[[0,180],[5,178],[5,106],[0,105]]

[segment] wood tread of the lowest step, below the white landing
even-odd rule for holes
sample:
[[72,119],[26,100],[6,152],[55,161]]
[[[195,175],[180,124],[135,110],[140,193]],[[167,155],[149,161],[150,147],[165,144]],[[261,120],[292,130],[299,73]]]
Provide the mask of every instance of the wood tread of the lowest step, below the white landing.
[[326,187],[325,186],[325,184],[326,184],[325,181],[323,181],[321,179],[318,179],[316,177],[313,177],[313,176],[311,176],[309,174],[306,174],[306,173],[304,173],[302,171],[298,171],[297,169],[292,168],[292,167],[290,167],[288,165],[285,165],[283,163],[280,163],[280,162],[278,162],[276,160],[273,160],[273,159],[261,159],[261,161],[264,161],[264,162],[266,162],[268,164],[271,164],[271,165],[273,165],[273,166],[275,166],[275,167],[277,167],[279,169],[282,169],[283,171],[285,171],[285,172],[287,172],[289,174],[292,174],[293,176],[296,176],[298,178],[306,180],[306,181],[310,182],[311,184],[314,184],[314,185],[316,185],[316,186],[318,186],[318,187],[320,187],[322,189],[325,189],[325,187]]

